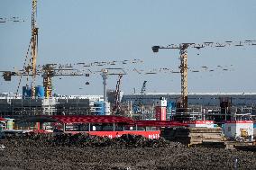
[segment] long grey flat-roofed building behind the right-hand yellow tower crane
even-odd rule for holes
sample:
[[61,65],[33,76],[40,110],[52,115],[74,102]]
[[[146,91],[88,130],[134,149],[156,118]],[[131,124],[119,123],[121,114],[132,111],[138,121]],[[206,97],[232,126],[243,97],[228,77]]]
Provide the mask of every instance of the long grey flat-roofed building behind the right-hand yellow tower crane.
[[[133,112],[139,112],[145,119],[155,119],[156,102],[160,99],[167,100],[167,119],[178,119],[184,116],[178,106],[180,94],[175,93],[147,93],[124,94],[123,103],[130,103]],[[240,93],[190,93],[187,97],[188,106],[186,120],[213,120],[236,121],[255,120],[256,94]],[[176,118],[175,118],[176,117]],[[181,118],[184,120],[185,118]]]

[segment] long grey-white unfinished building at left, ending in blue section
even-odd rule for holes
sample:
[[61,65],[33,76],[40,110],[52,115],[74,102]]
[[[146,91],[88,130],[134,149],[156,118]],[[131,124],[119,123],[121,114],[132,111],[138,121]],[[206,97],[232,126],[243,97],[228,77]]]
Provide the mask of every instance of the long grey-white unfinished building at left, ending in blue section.
[[[23,98],[22,95],[0,94],[0,115],[103,115],[105,104],[102,95],[56,95],[50,99]],[[0,117],[1,117],[0,116]]]

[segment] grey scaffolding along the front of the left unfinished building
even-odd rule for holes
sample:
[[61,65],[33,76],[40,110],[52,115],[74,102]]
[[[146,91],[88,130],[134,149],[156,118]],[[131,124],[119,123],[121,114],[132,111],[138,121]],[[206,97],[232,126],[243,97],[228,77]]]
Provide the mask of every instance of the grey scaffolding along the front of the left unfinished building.
[[89,99],[0,99],[0,116],[87,115]]

